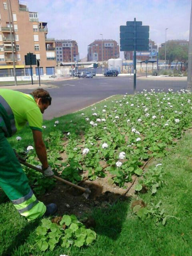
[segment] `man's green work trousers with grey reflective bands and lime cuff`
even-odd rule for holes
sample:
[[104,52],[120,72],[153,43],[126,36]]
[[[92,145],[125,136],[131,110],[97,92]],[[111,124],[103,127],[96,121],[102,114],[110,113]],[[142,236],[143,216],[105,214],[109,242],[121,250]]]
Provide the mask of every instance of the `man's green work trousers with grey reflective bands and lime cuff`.
[[0,128],[0,187],[18,212],[28,220],[35,220],[46,212],[46,206],[33,194],[26,174],[12,147]]

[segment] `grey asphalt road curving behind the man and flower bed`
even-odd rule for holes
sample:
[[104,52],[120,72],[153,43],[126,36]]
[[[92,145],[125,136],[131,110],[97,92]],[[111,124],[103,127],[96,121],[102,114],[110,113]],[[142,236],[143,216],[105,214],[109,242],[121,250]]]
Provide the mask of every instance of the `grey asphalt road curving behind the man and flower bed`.
[[[70,81],[50,82],[58,88],[49,88],[52,105],[44,113],[45,119],[62,116],[80,110],[115,94],[133,94],[133,77],[94,77]],[[172,88],[174,91],[184,89],[186,81],[154,81],[137,79],[137,91]],[[20,90],[29,93],[29,90]]]

